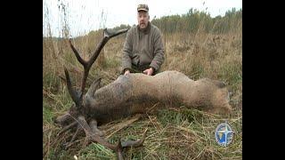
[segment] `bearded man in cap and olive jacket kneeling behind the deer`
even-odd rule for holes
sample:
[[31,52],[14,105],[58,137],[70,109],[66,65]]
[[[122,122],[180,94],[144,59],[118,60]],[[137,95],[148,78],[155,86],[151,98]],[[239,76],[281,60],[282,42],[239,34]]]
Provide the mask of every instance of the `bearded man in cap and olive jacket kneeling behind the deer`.
[[137,7],[138,25],[126,33],[123,48],[122,73],[142,72],[153,76],[158,73],[164,61],[164,46],[159,28],[151,24],[149,7],[139,4]]

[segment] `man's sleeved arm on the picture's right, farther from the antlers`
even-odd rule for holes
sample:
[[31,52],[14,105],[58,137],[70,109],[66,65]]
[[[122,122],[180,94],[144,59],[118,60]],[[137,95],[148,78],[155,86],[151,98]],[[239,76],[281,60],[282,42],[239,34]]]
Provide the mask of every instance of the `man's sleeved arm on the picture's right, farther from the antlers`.
[[160,66],[165,60],[164,57],[164,45],[162,43],[162,35],[159,30],[154,34],[154,58],[151,61],[151,68],[154,68],[155,71],[159,70]]

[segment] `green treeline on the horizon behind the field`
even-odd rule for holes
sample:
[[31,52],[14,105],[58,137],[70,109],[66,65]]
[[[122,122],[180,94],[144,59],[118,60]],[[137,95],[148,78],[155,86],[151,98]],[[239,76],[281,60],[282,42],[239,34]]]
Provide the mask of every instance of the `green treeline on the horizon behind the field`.
[[[211,18],[207,12],[199,12],[192,8],[186,14],[163,16],[159,19],[151,20],[151,23],[160,28],[163,33],[215,33],[224,34],[229,32],[241,31],[242,28],[242,9],[236,11],[235,8],[225,12],[224,16]],[[130,28],[121,25],[113,28]]]

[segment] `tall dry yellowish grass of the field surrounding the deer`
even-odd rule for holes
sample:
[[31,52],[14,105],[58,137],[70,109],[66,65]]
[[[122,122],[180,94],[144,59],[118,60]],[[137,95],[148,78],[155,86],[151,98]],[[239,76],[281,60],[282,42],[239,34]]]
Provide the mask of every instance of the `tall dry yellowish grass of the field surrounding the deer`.
[[[231,115],[211,115],[195,109],[176,108],[160,110],[158,114],[128,117],[104,124],[102,131],[110,142],[138,139],[149,128],[142,148],[129,148],[127,159],[241,159],[242,156],[242,23],[226,34],[172,33],[165,36],[167,59],[164,70],[178,70],[190,78],[202,77],[224,81],[232,92]],[[214,25],[215,26],[215,25]],[[203,28],[203,25],[200,25]],[[87,84],[102,77],[102,84],[110,84],[120,73],[122,47],[125,36],[111,39],[105,45],[102,57],[94,63]],[[94,52],[102,38],[102,30],[73,40],[84,59]],[[57,135],[61,128],[53,124],[53,117],[67,111],[72,104],[66,85],[63,65],[69,68],[75,87],[79,86],[82,66],[77,62],[66,38],[43,37],[43,159],[110,159],[115,153],[100,144],[84,147],[80,137],[68,150],[63,144],[72,137],[71,132]],[[87,86],[88,86],[87,85]],[[232,144],[222,148],[216,144],[216,125],[229,122],[234,130]],[[130,123],[131,122],[131,123]],[[124,126],[124,127],[121,127]]]

